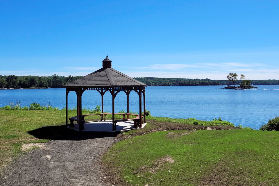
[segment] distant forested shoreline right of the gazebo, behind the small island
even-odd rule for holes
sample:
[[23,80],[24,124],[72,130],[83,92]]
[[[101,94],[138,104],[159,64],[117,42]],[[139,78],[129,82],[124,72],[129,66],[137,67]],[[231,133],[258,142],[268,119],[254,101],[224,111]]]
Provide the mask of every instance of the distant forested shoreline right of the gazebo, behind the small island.
[[[135,78],[137,81],[145,83],[149,86],[191,86],[191,85],[232,85],[232,82],[227,80],[211,80],[211,79],[186,79],[186,78]],[[236,84],[240,85],[241,80],[238,80]],[[278,85],[279,80],[252,80],[253,85]]]

